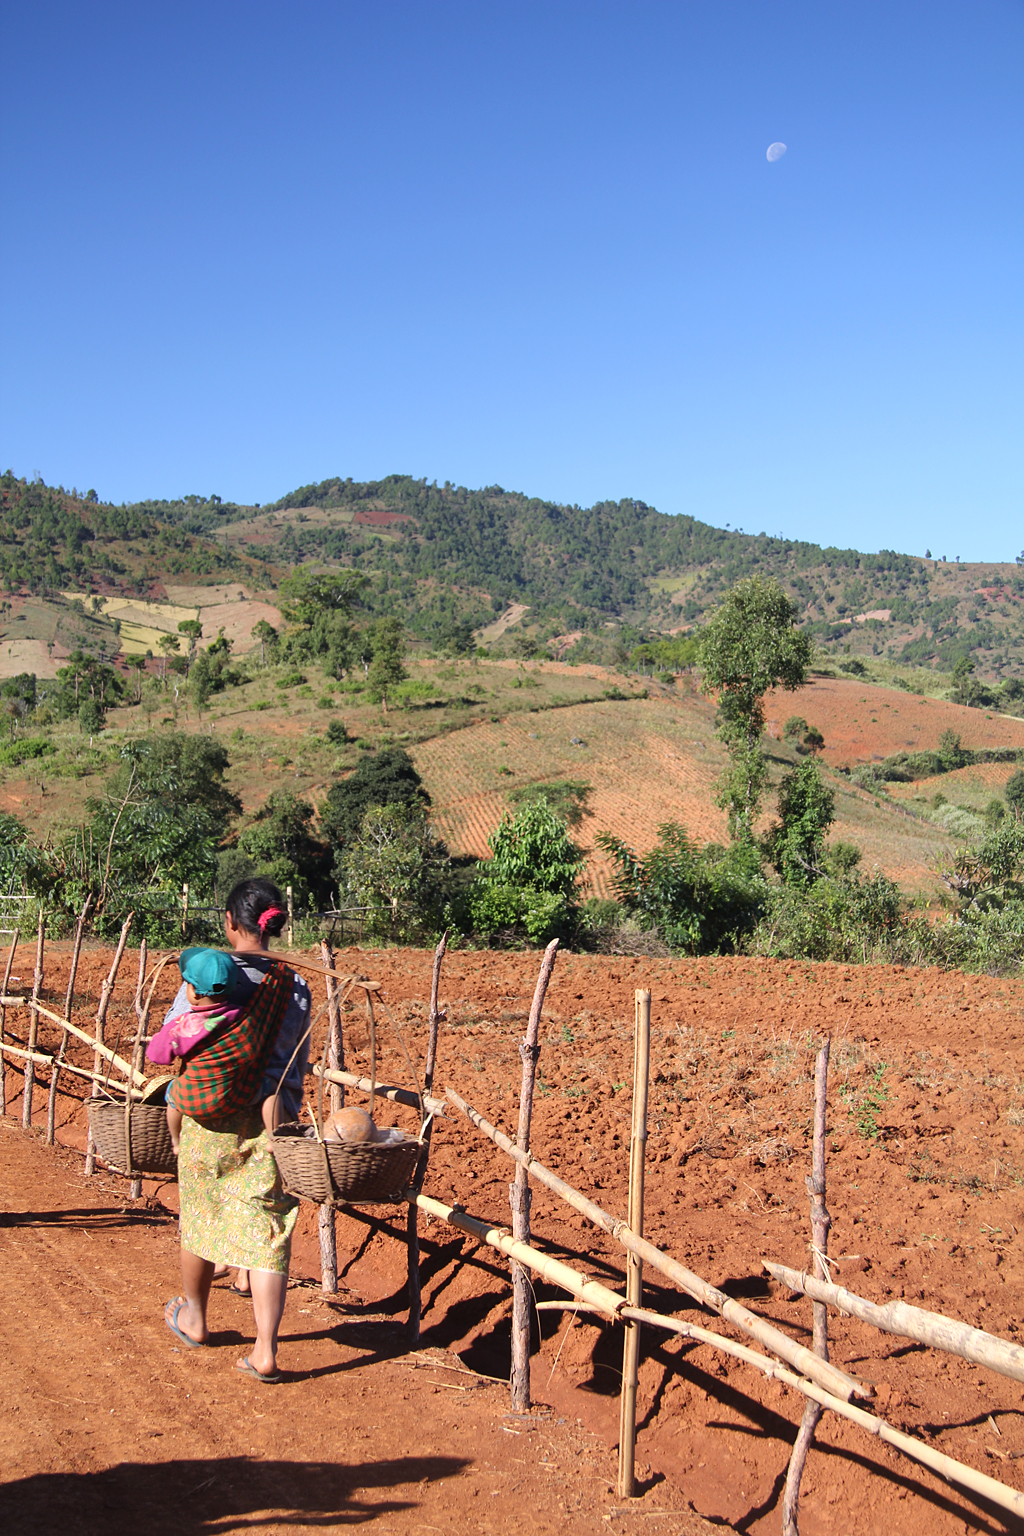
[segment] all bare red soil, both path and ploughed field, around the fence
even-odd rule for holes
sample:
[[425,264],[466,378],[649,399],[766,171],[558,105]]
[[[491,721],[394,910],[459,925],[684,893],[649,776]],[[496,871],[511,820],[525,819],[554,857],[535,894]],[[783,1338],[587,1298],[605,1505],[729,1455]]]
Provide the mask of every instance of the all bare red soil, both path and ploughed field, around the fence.
[[[338,962],[382,983],[419,1063],[428,954],[352,949]],[[52,946],[54,997],[66,963],[64,948]],[[25,978],[31,965],[23,948],[15,972]],[[97,997],[107,965],[104,951],[84,957],[80,997]],[[448,1017],[436,1086],[451,1083],[505,1129],[516,1118],[517,1043],[536,969],[534,954],[459,952],[445,962]],[[130,955],[126,971],[111,1041],[129,1028]],[[167,983],[169,992],[169,975]],[[809,1304],[766,1283],[760,1258],[795,1267],[808,1260],[811,1066],[831,1031],[827,1201],[838,1281],[1019,1342],[1021,983],[938,971],[560,955],[542,1023],[533,1149],[616,1215],[625,1212],[640,985],[652,989],[646,1233],[654,1243],[809,1339]],[[77,1020],[92,1008],[84,1005]],[[8,1025],[23,1038],[25,1014],[11,1014]],[[361,1009],[345,1014],[345,1031],[348,1064],[365,1069]],[[54,1044],[48,1031],[41,1044]],[[407,1080],[387,1023],[381,1048],[382,1074]],[[83,1064],[88,1057],[84,1046],[72,1054]],[[302,1209],[282,1387],[267,1392],[233,1373],[252,1316],[230,1293],[216,1296],[212,1313],[224,1347],[173,1353],[160,1307],[177,1290],[166,1213],[175,1187],[147,1181],[146,1204],[132,1207],[124,1181],[103,1174],[83,1183],[74,1150],[84,1140],[80,1101],[61,1098],[58,1138],[71,1150],[54,1152],[12,1118],[20,1089],[20,1072],[8,1069],[8,1118],[0,1121],[0,1227],[9,1255],[0,1358],[6,1528],[49,1531],[71,1514],[98,1531],[144,1511],[157,1531],[172,1522],[190,1531],[253,1524],[296,1531],[364,1519],[393,1531],[524,1524],[646,1531],[656,1511],[672,1511],[671,1530],[700,1530],[697,1516],[743,1531],[778,1530],[803,1409],[795,1393],[706,1346],[645,1330],[643,1498],[620,1514],[613,1491],[619,1330],[540,1313],[533,1392],[545,1407],[525,1421],[507,1416],[499,1385],[415,1369],[418,1356],[404,1353],[401,1332],[404,1213],[395,1207],[339,1215],[348,1289],[336,1301],[318,1295],[315,1210]],[[379,1118],[411,1127],[415,1117],[387,1106]],[[45,1124],[41,1092],[35,1120]],[[510,1170],[454,1111],[438,1121],[428,1193],[504,1223]],[[620,1286],[622,1252],[539,1186],[533,1230],[537,1246]],[[434,1362],[504,1378],[505,1261],[436,1221],[421,1221],[421,1349]],[[706,1322],[657,1275],[648,1270],[645,1283],[648,1306]],[[536,1292],[559,1296],[543,1284]],[[732,1333],[717,1319],[711,1326]],[[875,1384],[883,1418],[1024,1487],[1019,1384],[838,1315],[831,1315],[831,1339],[834,1361]],[[183,1493],[193,1501],[184,1521]],[[800,1519],[804,1536],[883,1525],[898,1536],[1019,1528],[832,1415],[809,1456]]]

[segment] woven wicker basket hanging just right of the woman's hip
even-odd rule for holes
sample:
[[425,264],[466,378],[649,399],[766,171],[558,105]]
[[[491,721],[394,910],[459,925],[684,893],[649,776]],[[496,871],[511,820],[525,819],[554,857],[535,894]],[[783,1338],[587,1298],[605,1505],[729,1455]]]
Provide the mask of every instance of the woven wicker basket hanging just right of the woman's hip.
[[422,1141],[367,1144],[321,1141],[306,1126],[278,1126],[270,1150],[290,1195],[322,1204],[395,1203],[411,1183]]

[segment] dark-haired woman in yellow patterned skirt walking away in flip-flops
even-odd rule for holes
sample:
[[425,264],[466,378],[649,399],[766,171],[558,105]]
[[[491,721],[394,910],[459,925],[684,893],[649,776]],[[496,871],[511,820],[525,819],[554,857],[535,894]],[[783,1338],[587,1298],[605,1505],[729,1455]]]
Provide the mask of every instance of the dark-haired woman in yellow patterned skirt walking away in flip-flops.
[[[164,1319],[190,1349],[209,1338],[206,1321],[218,1266],[247,1273],[256,1342],[238,1369],[279,1381],[278,1332],[287,1298],[298,1201],[284,1193],[263,1126],[266,1083],[292,1066],[281,1084],[284,1120],[298,1118],[309,1040],[306,982],[267,952],[284,926],[284,899],[270,880],[239,880],[227,897],[224,932],[241,971],[235,998],[246,1015],[190,1058],[167,1089],[183,1111],[178,1152],[181,1289]],[[184,985],[167,1018],[187,1009]],[[166,1020],[164,1020],[166,1023]],[[296,1051],[298,1046],[298,1051]],[[243,1287],[244,1289],[244,1287]]]

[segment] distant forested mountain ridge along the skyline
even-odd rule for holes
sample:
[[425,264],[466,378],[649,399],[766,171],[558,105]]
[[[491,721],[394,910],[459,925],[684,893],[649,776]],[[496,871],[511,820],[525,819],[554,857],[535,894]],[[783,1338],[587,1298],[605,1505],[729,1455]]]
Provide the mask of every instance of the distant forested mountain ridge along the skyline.
[[[700,625],[737,581],[777,578],[826,650],[1012,676],[1024,662],[1024,571],[877,554],[711,527],[642,501],[565,505],[408,475],[325,479],[264,507],[218,496],[129,507],[3,476],[0,578],[58,587],[92,571],[120,590],[184,573],[273,587],[295,565],[355,567],[367,604],[431,639],[511,604],[519,633],[651,633]],[[92,493],[94,495],[94,493]],[[51,558],[52,556],[52,558]],[[134,585],[132,585],[134,584]]]

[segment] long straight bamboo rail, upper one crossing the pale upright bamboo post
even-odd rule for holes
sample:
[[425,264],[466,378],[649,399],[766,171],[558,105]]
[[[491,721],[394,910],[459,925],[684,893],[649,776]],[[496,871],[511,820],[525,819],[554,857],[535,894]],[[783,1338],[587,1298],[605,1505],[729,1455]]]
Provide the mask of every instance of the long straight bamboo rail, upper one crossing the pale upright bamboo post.
[[454,1089],[447,1089],[447,1095],[456,1109],[461,1109],[473,1121],[477,1130],[482,1130],[485,1137],[490,1137],[491,1141],[502,1149],[502,1152],[508,1152],[510,1157],[527,1167],[533,1178],[536,1178],[540,1184],[545,1184],[553,1193],[560,1195],[562,1200],[573,1206],[574,1210],[579,1210],[588,1221],[593,1221],[596,1227],[602,1229],[602,1232],[608,1232],[609,1236],[616,1238],[617,1243],[622,1243],[625,1249],[637,1253],[639,1258],[651,1266],[651,1269],[656,1269],[659,1275],[665,1275],[666,1279],[671,1279],[682,1292],[692,1296],[694,1301],[699,1301],[711,1312],[717,1312],[718,1316],[725,1318],[726,1322],[731,1322],[734,1327],[742,1329],[743,1333],[749,1333],[751,1338],[758,1341],[758,1344],[769,1349],[772,1355],[778,1355],[778,1358],[788,1361],[794,1370],[809,1376],[811,1381],[817,1381],[826,1392],[834,1392],[846,1399],[854,1396],[872,1396],[872,1387],[857,1381],[855,1376],[849,1376],[844,1370],[840,1370],[838,1366],[818,1359],[812,1350],[806,1349],[803,1344],[794,1342],[794,1339],[777,1329],[772,1322],[768,1322],[765,1318],[758,1318],[754,1312],[748,1312],[748,1309],[740,1306],[738,1301],[734,1301],[732,1296],[726,1296],[725,1292],[708,1284],[708,1281],[702,1279],[700,1275],[694,1275],[692,1270],[685,1267],[685,1264],[680,1264],[679,1260],[663,1253],[662,1249],[654,1247],[654,1244],[648,1243],[646,1238],[636,1236],[629,1232],[625,1221],[608,1215],[606,1210],[602,1210],[602,1207],[594,1204],[593,1200],[588,1200],[586,1195],[580,1195],[577,1189],[567,1184],[565,1180],[557,1177],[557,1174],[553,1174],[542,1163],[537,1163],[531,1154],[520,1152],[507,1135],[496,1130],[490,1121],[484,1120],[484,1115],[481,1115],[476,1109],[471,1109],[465,1100],[459,1098]]

